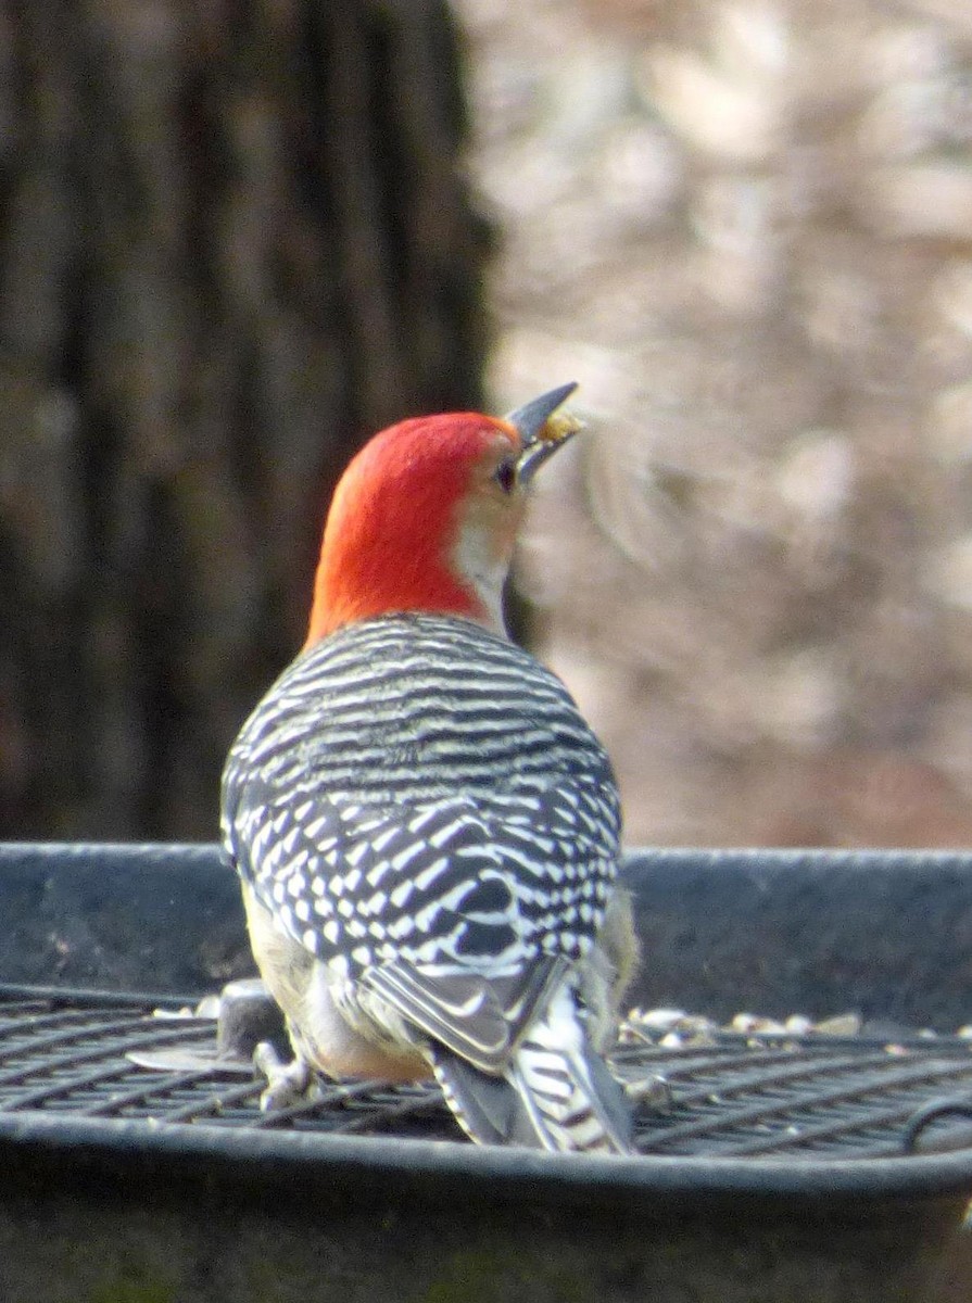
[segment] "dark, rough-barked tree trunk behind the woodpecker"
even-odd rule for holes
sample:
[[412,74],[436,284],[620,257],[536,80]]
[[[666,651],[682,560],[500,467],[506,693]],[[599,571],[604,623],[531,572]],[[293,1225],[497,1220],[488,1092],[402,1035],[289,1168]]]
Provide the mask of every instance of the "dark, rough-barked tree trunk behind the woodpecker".
[[208,838],[361,439],[478,397],[435,0],[0,0],[0,835]]

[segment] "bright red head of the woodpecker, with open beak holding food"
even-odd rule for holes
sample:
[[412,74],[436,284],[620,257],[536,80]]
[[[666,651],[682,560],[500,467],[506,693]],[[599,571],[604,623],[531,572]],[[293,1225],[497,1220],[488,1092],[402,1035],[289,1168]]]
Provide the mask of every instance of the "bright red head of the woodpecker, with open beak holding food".
[[324,525],[306,646],[401,611],[503,629],[502,592],[539,466],[580,429],[564,384],[507,417],[455,412],[377,434],[344,472]]

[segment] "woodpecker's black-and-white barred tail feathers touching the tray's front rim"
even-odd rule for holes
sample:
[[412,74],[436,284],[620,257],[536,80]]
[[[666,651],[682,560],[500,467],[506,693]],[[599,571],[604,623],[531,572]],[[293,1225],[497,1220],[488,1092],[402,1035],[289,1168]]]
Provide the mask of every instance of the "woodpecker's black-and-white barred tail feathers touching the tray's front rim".
[[573,989],[563,982],[517,1044],[503,1076],[436,1045],[446,1102],[478,1144],[580,1153],[631,1153],[624,1091],[588,1038]]

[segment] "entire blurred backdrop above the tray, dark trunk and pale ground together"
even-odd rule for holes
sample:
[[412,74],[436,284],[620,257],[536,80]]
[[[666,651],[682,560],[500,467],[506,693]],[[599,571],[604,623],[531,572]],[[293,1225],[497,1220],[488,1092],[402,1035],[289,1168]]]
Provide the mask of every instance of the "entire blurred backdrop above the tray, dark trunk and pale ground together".
[[628,840],[969,844],[965,0],[0,0],[0,835],[215,835],[353,450],[568,379]]

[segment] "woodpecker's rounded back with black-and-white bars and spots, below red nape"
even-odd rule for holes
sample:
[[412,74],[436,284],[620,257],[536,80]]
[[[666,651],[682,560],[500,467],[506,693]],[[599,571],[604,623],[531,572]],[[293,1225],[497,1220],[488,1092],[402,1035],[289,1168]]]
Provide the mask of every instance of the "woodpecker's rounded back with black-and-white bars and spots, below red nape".
[[345,980],[396,960],[502,977],[589,950],[620,813],[555,675],[469,620],[391,615],[274,684],[229,753],[223,831],[257,899]]

